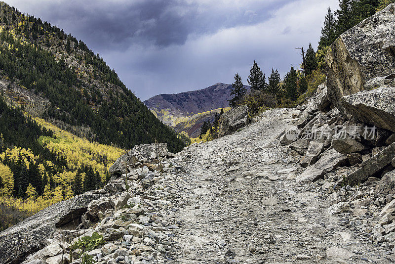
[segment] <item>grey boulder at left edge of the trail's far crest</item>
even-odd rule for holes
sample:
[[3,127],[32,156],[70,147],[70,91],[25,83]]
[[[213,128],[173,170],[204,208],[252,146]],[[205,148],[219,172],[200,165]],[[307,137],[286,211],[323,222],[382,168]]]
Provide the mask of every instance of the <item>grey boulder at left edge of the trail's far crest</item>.
[[218,135],[224,136],[236,132],[249,123],[248,107],[246,105],[240,105],[221,116],[219,120]]

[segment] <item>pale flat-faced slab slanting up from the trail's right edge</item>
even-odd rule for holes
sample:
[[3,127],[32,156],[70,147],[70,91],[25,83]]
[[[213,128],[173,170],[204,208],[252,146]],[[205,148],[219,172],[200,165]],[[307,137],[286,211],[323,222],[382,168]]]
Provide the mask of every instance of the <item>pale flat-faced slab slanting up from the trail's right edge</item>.
[[323,176],[338,166],[345,164],[347,156],[337,152],[331,148],[321,154],[320,159],[312,166],[306,168],[306,170],[296,177],[296,182],[305,183],[312,182],[315,179]]

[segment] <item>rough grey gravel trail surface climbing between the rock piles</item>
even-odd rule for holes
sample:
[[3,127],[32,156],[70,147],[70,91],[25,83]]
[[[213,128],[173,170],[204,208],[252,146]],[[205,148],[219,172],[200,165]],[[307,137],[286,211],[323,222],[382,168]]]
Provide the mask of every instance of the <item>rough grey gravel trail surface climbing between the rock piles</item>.
[[388,263],[367,234],[328,214],[318,184],[296,183],[300,167],[287,165],[275,140],[290,120],[289,109],[269,110],[242,131],[189,147],[177,182],[176,263]]

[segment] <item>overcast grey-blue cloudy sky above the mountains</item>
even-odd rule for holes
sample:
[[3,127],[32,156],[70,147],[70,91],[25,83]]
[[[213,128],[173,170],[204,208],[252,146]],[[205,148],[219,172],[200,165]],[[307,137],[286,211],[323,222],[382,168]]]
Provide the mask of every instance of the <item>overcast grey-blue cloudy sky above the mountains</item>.
[[316,48],[338,0],[6,0],[99,53],[142,100],[160,93],[247,84],[254,60],[281,77],[296,47]]

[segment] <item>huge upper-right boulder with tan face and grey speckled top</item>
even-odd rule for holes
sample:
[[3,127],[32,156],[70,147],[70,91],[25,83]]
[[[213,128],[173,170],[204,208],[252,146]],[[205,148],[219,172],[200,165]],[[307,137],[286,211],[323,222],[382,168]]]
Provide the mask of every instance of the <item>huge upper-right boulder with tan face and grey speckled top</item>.
[[395,73],[395,4],[343,33],[326,54],[329,100],[344,114],[341,98],[365,90],[369,80]]

